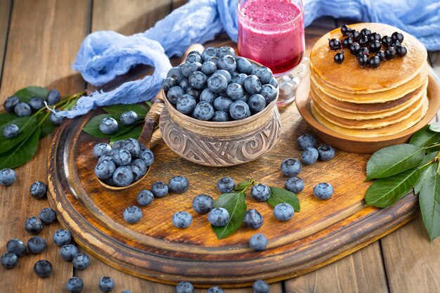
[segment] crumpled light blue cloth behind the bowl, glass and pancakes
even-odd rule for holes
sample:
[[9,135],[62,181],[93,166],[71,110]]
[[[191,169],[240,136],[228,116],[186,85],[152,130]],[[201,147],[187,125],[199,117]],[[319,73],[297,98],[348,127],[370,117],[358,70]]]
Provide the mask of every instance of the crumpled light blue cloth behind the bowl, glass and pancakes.
[[[84,39],[73,68],[95,86],[110,82],[138,64],[155,72],[141,80],[126,82],[113,91],[94,91],[59,115],[76,117],[98,106],[150,100],[160,90],[171,68],[169,57],[181,56],[190,44],[214,39],[226,31],[237,41],[238,0],[192,0],[160,20],[150,30],[125,37],[116,32],[94,32]],[[321,16],[384,22],[415,37],[428,50],[440,49],[440,2],[434,0],[304,0],[305,25]]]

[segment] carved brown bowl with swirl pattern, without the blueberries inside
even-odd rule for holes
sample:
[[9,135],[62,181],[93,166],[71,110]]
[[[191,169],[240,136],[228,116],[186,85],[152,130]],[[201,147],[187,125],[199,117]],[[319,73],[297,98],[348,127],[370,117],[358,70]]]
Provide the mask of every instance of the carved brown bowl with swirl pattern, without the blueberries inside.
[[201,121],[182,114],[162,90],[162,138],[177,155],[209,167],[250,162],[271,150],[281,132],[280,114],[273,100],[261,112],[228,122]]

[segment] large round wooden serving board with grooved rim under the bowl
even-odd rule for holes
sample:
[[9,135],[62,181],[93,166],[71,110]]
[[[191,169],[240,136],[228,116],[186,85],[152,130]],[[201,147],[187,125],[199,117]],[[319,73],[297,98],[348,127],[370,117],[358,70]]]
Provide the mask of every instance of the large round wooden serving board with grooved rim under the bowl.
[[[48,159],[48,198],[59,221],[79,245],[110,266],[141,278],[169,284],[188,280],[199,287],[214,283],[241,287],[257,279],[275,282],[340,259],[418,214],[418,197],[413,195],[388,209],[365,207],[363,195],[370,183],[363,180],[369,156],[337,151],[335,159],[306,166],[299,174],[306,188],[299,193],[301,211],[292,220],[276,221],[268,204],[248,196],[248,209],[258,209],[264,225],[257,231],[242,226],[230,237],[217,240],[207,215],[197,215],[191,208],[193,197],[200,193],[219,197],[216,181],[224,176],[236,182],[252,177],[283,187],[286,177],[280,172],[280,163],[286,157],[300,156],[297,137],[310,131],[295,104],[280,110],[283,130],[273,150],[236,167],[209,168],[187,162],[169,150],[156,131],[151,147],[156,161],[150,173],[140,184],[122,192],[106,190],[93,174],[93,145],[104,140],[85,134],[82,127],[99,113],[72,119],[56,133]],[[228,148],[218,151],[228,152]],[[143,219],[139,223],[130,225],[123,220],[122,212],[136,204],[140,190],[175,175],[189,179],[186,193],[169,194],[141,207]],[[330,200],[313,197],[313,186],[320,182],[335,187]],[[172,215],[181,210],[193,215],[190,228],[172,226]],[[268,237],[263,252],[248,247],[257,232]]]

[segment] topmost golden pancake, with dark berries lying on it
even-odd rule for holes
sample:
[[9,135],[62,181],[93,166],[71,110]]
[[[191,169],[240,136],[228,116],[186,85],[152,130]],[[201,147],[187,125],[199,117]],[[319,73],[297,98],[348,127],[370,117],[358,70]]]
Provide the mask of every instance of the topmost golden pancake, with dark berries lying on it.
[[333,61],[336,52],[330,51],[328,39],[342,39],[342,34],[339,28],[332,30],[316,42],[310,54],[310,67],[319,78],[320,84],[345,93],[377,93],[406,84],[422,72],[427,51],[415,37],[396,27],[379,23],[358,23],[349,27],[358,31],[368,27],[382,37],[401,32],[404,37],[402,45],[406,46],[408,53],[403,58],[396,57],[381,63],[375,70],[361,68],[356,57],[351,56],[348,51],[344,54],[344,63],[337,64]]

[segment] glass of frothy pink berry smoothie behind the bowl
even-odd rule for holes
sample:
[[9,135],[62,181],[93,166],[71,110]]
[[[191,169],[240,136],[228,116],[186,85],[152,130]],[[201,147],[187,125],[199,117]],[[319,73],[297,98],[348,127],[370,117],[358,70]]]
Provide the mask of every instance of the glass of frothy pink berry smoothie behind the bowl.
[[278,105],[295,99],[306,66],[302,0],[240,0],[238,53],[269,67],[278,79]]

